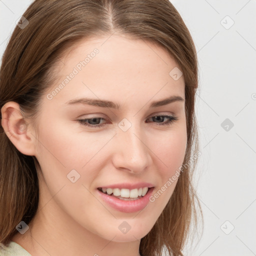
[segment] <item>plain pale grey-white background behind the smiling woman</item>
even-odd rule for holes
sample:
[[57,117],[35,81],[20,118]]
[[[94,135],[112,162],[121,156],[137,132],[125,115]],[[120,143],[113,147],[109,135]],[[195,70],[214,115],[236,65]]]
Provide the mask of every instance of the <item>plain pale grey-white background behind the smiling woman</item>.
[[[31,2],[0,0],[0,55]],[[200,76],[195,184],[204,230],[183,252],[256,255],[256,0],[171,2],[194,39]]]

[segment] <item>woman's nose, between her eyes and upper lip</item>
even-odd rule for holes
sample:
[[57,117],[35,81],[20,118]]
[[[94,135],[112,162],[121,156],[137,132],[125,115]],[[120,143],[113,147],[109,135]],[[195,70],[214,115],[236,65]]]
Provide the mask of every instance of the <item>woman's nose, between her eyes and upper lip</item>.
[[139,125],[132,124],[126,131],[118,129],[114,141],[112,162],[116,169],[140,173],[151,164],[146,133]]

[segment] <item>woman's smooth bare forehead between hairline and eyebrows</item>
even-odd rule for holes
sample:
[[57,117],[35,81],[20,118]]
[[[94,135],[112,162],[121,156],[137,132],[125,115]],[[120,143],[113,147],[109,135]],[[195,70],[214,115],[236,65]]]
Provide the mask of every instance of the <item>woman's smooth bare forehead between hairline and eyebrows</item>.
[[[55,99],[68,100],[77,94],[112,100],[126,100],[128,96],[162,98],[176,94],[184,97],[184,80],[174,80],[169,74],[181,69],[161,46],[120,35],[86,38],[68,48],[56,65],[58,79],[64,86]],[[73,78],[63,81],[69,74]],[[156,98],[155,98],[156,99]]]

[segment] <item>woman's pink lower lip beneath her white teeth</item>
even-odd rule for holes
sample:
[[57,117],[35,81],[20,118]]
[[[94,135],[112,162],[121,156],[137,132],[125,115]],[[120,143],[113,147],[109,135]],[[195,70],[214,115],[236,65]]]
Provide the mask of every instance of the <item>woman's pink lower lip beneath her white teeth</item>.
[[142,210],[148,204],[149,197],[152,194],[153,188],[154,187],[150,187],[143,197],[129,201],[118,199],[114,196],[104,194],[98,189],[96,190],[99,193],[99,196],[101,196],[101,198],[103,199],[103,201],[107,202],[108,205],[110,205],[112,208],[122,212],[136,212],[138,210]]

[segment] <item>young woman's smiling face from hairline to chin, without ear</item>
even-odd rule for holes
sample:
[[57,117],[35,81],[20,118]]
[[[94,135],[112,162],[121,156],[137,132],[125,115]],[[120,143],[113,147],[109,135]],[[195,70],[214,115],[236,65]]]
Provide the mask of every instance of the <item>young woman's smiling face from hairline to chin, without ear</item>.
[[[40,200],[41,206],[50,200],[48,216],[69,221],[69,228],[75,223],[104,239],[134,241],[170,199],[187,141],[184,100],[151,104],[185,99],[185,85],[161,47],[108,37],[84,40],[62,57],[58,80],[42,98],[35,155]],[[131,200],[140,187],[152,188]],[[124,188],[120,193],[129,198],[98,188]]]

